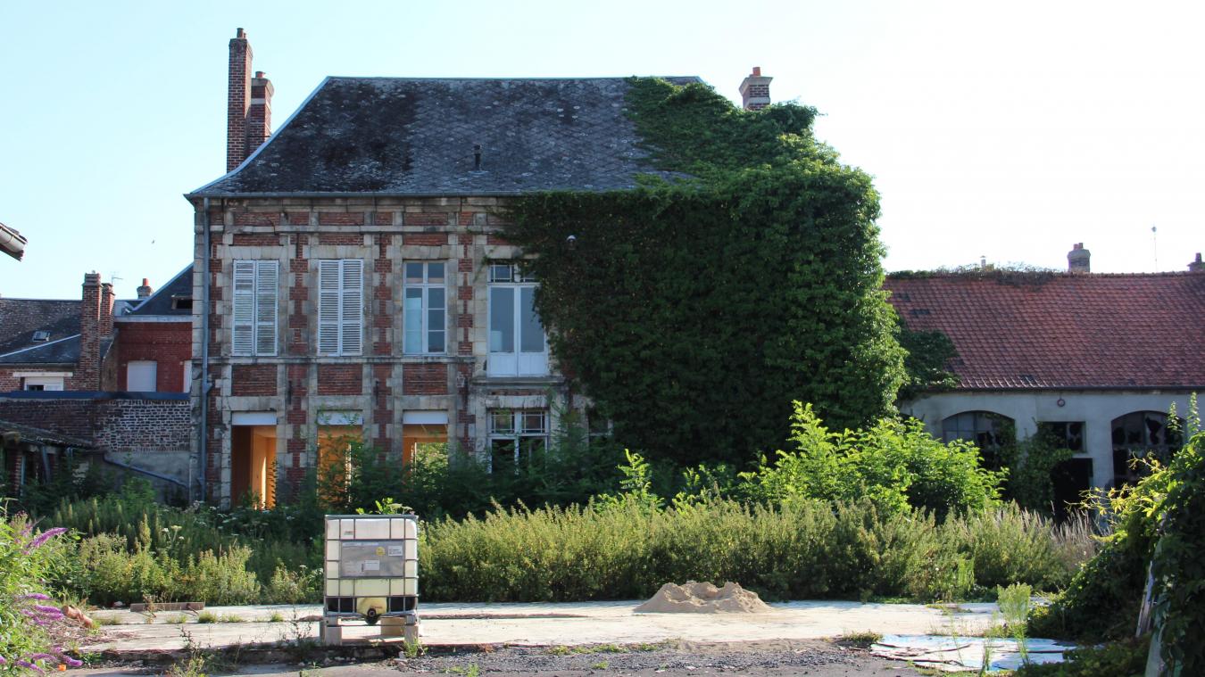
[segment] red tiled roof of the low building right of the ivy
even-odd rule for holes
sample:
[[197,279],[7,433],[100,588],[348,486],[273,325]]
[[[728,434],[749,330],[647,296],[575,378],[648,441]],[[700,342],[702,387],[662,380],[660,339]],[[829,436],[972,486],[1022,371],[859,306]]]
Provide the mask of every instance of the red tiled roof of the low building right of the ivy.
[[1205,275],[888,276],[913,330],[954,343],[963,390],[1205,387]]

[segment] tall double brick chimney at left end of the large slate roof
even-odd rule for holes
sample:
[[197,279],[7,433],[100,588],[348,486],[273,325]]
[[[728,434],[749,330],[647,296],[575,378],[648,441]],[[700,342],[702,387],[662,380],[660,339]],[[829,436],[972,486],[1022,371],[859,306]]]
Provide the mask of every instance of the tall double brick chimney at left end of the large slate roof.
[[252,51],[241,28],[230,40],[227,92],[227,171],[242,164],[271,135],[272,83],[264,71],[251,71]]

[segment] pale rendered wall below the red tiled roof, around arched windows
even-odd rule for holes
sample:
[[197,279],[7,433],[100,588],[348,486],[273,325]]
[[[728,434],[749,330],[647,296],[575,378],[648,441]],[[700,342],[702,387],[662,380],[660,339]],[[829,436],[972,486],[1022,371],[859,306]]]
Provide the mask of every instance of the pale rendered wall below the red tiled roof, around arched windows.
[[[1063,401],[1060,406],[1058,402]],[[1082,420],[1083,453],[1092,459],[1092,483],[1106,487],[1113,478],[1112,420],[1135,411],[1166,413],[1175,402],[1181,417],[1188,411],[1188,393],[1125,390],[1039,390],[1017,393],[936,393],[903,402],[900,411],[924,422],[941,437],[941,422],[965,411],[1004,414],[1016,422],[1017,438],[1038,431],[1039,422]]]

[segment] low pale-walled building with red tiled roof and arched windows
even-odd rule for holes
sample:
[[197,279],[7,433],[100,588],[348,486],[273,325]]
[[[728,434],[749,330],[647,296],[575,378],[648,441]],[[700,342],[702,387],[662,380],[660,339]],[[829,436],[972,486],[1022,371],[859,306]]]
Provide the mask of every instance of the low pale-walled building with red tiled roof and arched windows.
[[1205,271],[1091,272],[1082,243],[1068,272],[894,273],[884,283],[910,330],[941,331],[958,384],[901,402],[946,440],[991,448],[1010,429],[1044,430],[1075,452],[1056,494],[1135,478],[1128,463],[1174,451],[1168,412],[1205,392]]

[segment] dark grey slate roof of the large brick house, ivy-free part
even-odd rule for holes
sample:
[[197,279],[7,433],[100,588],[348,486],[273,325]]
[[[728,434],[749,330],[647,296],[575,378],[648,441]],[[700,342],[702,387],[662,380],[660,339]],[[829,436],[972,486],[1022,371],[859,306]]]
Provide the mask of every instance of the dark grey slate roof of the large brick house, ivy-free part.
[[637,147],[628,87],[627,78],[328,77],[246,163],[192,196],[631,188],[636,175],[660,172]]

